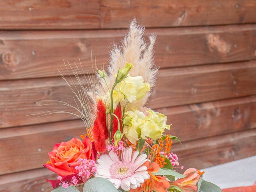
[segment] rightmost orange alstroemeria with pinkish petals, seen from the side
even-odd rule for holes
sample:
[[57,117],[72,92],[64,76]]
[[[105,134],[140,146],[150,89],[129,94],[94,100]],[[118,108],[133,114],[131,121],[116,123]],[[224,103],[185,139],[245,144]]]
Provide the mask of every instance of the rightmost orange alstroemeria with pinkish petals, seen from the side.
[[189,168],[184,174],[185,178],[177,179],[176,181],[170,182],[171,186],[178,186],[183,192],[196,192],[197,182],[200,179],[200,175],[196,172],[196,169]]

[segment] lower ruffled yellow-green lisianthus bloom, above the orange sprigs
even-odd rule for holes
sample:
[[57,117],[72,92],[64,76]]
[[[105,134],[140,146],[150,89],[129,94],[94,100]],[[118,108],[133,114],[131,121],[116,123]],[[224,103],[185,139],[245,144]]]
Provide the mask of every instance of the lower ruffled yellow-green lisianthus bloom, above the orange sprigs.
[[161,113],[153,110],[143,113],[134,109],[125,113],[123,134],[132,144],[140,138],[149,137],[156,140],[162,136],[165,129],[170,130],[170,125],[166,122],[167,117]]

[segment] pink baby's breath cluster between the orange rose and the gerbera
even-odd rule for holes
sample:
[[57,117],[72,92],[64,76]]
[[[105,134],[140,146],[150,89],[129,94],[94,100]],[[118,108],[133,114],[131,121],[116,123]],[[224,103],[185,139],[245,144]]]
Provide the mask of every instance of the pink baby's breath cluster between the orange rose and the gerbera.
[[[77,162],[81,163],[75,167],[75,169],[78,170],[78,178],[85,183],[94,174],[94,172],[96,172],[96,163],[94,160],[82,158],[80,158]],[[77,183],[78,180],[73,180],[72,178],[72,182]]]

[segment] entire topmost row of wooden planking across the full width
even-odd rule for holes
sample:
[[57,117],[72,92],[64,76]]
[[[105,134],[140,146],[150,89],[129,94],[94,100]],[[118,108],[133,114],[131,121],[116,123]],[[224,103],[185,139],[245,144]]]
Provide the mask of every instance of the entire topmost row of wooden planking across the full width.
[[134,16],[147,27],[244,24],[256,22],[255,6],[254,0],[2,1],[0,28],[126,28]]

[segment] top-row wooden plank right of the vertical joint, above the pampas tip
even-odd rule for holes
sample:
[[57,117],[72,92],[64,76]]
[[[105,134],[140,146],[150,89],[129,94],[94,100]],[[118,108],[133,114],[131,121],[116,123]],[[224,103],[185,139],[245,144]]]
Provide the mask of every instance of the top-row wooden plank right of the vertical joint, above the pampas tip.
[[124,28],[134,17],[146,27],[253,23],[255,6],[254,0],[102,0],[101,27]]

